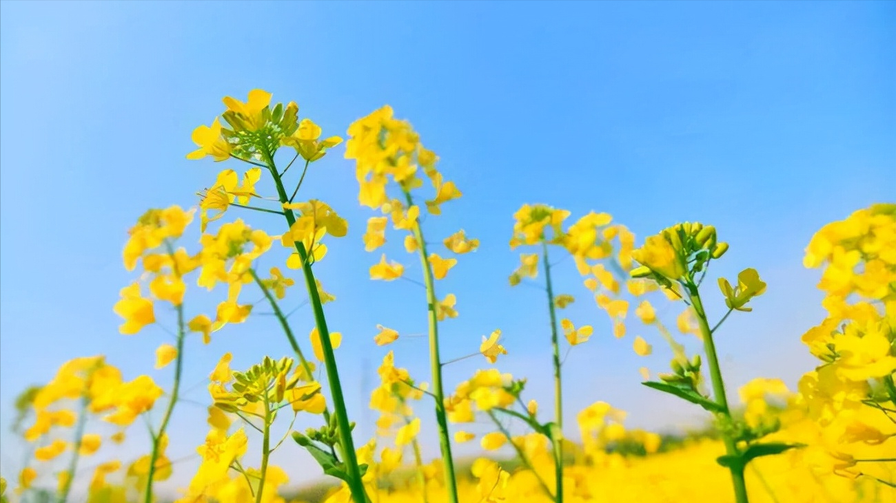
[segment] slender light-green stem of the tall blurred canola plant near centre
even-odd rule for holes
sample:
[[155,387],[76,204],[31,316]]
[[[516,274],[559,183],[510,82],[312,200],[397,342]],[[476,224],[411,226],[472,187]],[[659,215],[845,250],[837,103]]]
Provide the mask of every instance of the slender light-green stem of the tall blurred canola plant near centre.
[[[404,191],[408,207],[414,205],[410,192]],[[445,489],[448,490],[448,501],[458,503],[457,480],[454,475],[454,458],[451,453],[451,438],[448,432],[448,420],[445,414],[445,398],[442,385],[442,359],[439,356],[439,319],[436,312],[438,300],[435,297],[435,280],[433,268],[426,252],[426,240],[419,219],[414,223],[414,238],[418,243],[420,265],[423,267],[423,280],[426,285],[426,305],[429,320],[429,365],[433,374],[433,394],[435,395],[435,421],[439,426],[439,445],[442,448],[442,461],[445,471]]]

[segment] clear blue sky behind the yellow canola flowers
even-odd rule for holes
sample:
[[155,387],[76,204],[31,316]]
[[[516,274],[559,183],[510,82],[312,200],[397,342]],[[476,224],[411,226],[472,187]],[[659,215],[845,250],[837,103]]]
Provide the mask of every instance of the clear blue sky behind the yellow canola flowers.
[[[6,432],[13,396],[50,379],[61,362],[106,354],[128,377],[170,382],[169,370],[152,370],[155,347],[169,340],[163,330],[117,333],[111,308],[134,279],[121,249],[145,209],[194,205],[194,192],[220,168],[241,167],[185,159],[194,149],[190,133],[211,123],[224,96],[262,88],[275,100],[296,100],[324,135],[344,135],[383,104],[409,118],[464,192],[444,216],[428,219],[427,233],[462,227],[482,240],[439,284],[441,294],[458,295],[461,312],[444,325],[445,357],[475,351],[482,334],[502,328],[511,354],[500,367],[528,376],[546,409],[543,294],[506,282],[517,263],[507,247],[511,215],[522,203],[547,202],[573,216],[607,211],[640,237],[688,219],[717,226],[731,251],[714,272],[731,277],[754,267],[769,284],[754,312],[733,317],[718,343],[736,386],[760,375],[792,385],[812,368],[799,336],[823,310],[818,272],[802,269],[802,251],[824,223],[896,200],[892,3],[4,2],[0,9],[5,475],[21,452]],[[363,412],[362,390],[374,384],[385,353],[372,342],[375,324],[420,333],[425,304],[409,282],[366,279],[379,257],[360,243],[372,213],[358,206],[354,166],[342,153],[314,166],[303,191],[349,219],[349,236],[332,240],[318,274],[338,296],[327,312],[345,337],[338,357],[349,407],[364,421],[373,416]],[[228,213],[237,216],[281,232],[276,218]],[[401,236],[392,237],[387,252],[418,275],[416,258],[399,250]],[[597,332],[566,360],[567,416],[606,400],[628,410],[634,426],[698,422],[698,411],[637,385],[638,367],[662,371],[668,360],[657,334],[633,327],[614,339],[572,262],[565,267],[558,266],[559,289],[580,294],[568,315]],[[222,295],[194,288],[188,310],[208,311]],[[304,295],[294,290],[289,298],[297,304]],[[719,303],[710,308],[718,312]],[[310,312],[293,320],[306,341]],[[192,385],[226,351],[237,354],[236,368],[288,354],[272,321],[259,316],[208,346],[194,340],[187,396],[206,400],[202,385]],[[633,354],[636,334],[655,344],[654,356]],[[424,339],[404,337],[393,348],[400,364],[428,379]],[[449,385],[482,363],[450,367]],[[419,410],[428,416],[428,405]],[[187,456],[202,441],[202,407],[181,406],[175,424],[172,457]],[[371,431],[360,433],[366,439]],[[140,435],[121,456],[145,448]],[[434,455],[434,437],[426,442]],[[284,448],[283,459],[296,455]]]

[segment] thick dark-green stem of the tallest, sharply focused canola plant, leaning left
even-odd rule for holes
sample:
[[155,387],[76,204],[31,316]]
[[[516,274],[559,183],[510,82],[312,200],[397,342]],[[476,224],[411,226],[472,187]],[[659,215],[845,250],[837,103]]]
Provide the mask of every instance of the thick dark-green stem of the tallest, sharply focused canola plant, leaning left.
[[[283,181],[278,175],[277,166],[274,165],[273,157],[269,152],[264,152],[264,156],[268,163],[268,170],[277,186],[277,194],[281,203],[289,202],[289,196],[283,187]],[[296,215],[292,209],[283,211],[286,222],[291,229],[296,223]],[[317,292],[317,285],[314,282],[314,271],[311,269],[311,263],[308,261],[308,252],[305,244],[295,242],[298,258],[302,262],[302,272],[305,273],[305,285],[308,290],[308,297],[311,300],[311,307],[314,311],[314,324],[317,327],[317,333],[321,337],[321,348],[323,349],[323,363],[327,371],[327,382],[330,385],[330,392],[333,399],[334,414],[336,415],[336,425],[339,430],[340,449],[342,450],[342,460],[345,463],[346,470],[349,472],[349,490],[351,497],[355,503],[366,503],[367,496],[364,490],[364,483],[361,481],[361,471],[358,468],[358,456],[355,454],[355,442],[351,439],[351,425],[349,424],[349,414],[345,408],[345,397],[342,395],[342,383],[339,378],[339,369],[336,367],[336,355],[333,354],[332,343],[330,342],[330,329],[327,328],[327,320],[323,315],[323,304],[321,303],[321,295]]]

